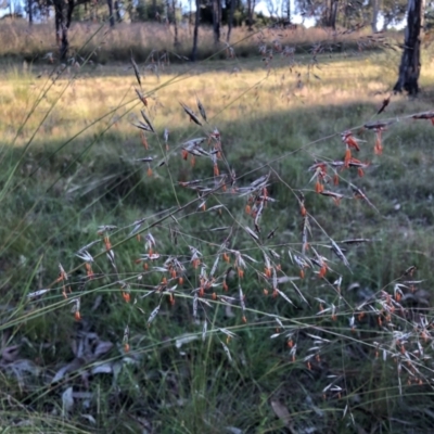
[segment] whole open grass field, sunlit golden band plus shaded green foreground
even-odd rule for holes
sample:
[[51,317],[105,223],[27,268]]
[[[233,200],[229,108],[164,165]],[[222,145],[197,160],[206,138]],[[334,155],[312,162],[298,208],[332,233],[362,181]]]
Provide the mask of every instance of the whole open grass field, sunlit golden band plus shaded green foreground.
[[[433,73],[422,69],[419,99],[392,98],[380,118],[400,122],[383,132],[384,151],[375,155],[374,133],[362,125],[379,118],[397,54],[317,60],[275,56],[268,69],[260,58],[186,62],[158,74],[138,61],[148,108],[127,63],[4,64],[1,425],[43,433],[429,430],[433,127],[405,116],[432,110]],[[195,110],[196,98],[208,116],[203,128],[179,104]],[[157,131],[146,135],[149,150],[131,125],[141,108]],[[214,191],[209,158],[192,167],[191,155],[181,157],[182,143],[214,127],[221,132],[219,169],[234,170],[235,188],[270,174],[267,193],[256,194],[277,202],[264,209],[258,239],[244,229],[254,230],[245,208],[260,201],[231,193],[229,183],[226,193]],[[340,186],[326,186],[344,195],[336,206],[315,192],[308,168],[343,159],[341,132],[349,128],[360,140],[357,157],[371,164],[362,178],[347,169],[337,173]],[[139,163],[144,156],[154,159]],[[178,183],[192,179],[210,194]],[[378,210],[356,200],[349,183]],[[301,191],[310,221],[306,255]],[[199,208],[204,199],[208,210]],[[142,219],[138,242],[131,230]],[[110,225],[116,228],[100,228]],[[341,242],[352,238],[372,242]],[[327,247],[331,240],[345,248],[350,270]],[[93,241],[90,278],[75,254]],[[197,268],[190,246],[201,252]],[[161,257],[138,261],[150,247]],[[291,261],[289,251],[311,258],[311,247],[329,260],[322,279],[312,264],[301,279]],[[246,263],[242,279],[237,252]],[[215,286],[207,288],[218,256]],[[153,268],[169,257],[178,260],[170,270],[177,276]],[[404,276],[410,266],[416,273]],[[288,278],[280,293],[260,277],[265,268]],[[36,296],[40,290],[48,291]],[[72,311],[77,299],[80,320]]]

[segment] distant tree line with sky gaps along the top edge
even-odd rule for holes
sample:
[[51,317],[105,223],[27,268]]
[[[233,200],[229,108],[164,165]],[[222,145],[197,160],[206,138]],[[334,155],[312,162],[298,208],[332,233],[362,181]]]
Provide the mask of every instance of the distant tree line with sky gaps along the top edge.
[[[13,0],[4,3],[11,7]],[[423,0],[425,2],[425,0]],[[408,9],[408,0],[295,0],[295,11],[291,11],[290,0],[266,0],[270,17],[255,13],[258,0],[72,0],[65,3],[66,14],[72,12],[75,21],[107,20],[114,26],[116,22],[170,23],[187,20],[195,21],[195,10],[200,9],[199,21],[212,25],[218,40],[221,26],[235,27],[242,24],[252,28],[255,24],[281,20],[291,24],[293,13],[306,18],[314,18],[318,26],[335,29],[352,27],[355,24],[369,24],[373,31],[386,30],[400,23]],[[58,7],[56,7],[58,4]],[[102,7],[106,4],[105,12]],[[46,21],[50,11],[59,9],[59,0],[26,0],[25,11],[31,24],[35,20]],[[63,8],[62,8],[63,9]],[[433,4],[424,4],[429,17],[433,15]],[[381,18],[381,20],[380,20]],[[67,18],[66,18],[67,21]],[[379,23],[381,28],[379,27]]]

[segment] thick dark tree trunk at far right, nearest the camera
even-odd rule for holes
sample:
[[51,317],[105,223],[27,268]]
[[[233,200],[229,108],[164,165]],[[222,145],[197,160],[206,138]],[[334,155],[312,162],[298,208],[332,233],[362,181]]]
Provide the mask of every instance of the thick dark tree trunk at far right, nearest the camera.
[[395,92],[403,89],[410,95],[419,92],[421,69],[420,47],[423,29],[424,0],[409,0],[407,10],[407,28],[404,40],[403,58],[399,65],[399,78],[394,87]]

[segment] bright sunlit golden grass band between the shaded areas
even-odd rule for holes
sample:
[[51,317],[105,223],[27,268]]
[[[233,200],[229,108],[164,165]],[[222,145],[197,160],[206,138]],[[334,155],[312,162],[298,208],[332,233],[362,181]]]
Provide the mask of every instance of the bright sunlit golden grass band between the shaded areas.
[[[210,67],[186,63],[162,65],[158,77],[148,68],[148,64],[140,67],[156,126],[174,129],[186,120],[178,102],[194,105],[196,95],[206,104],[215,125],[247,117],[261,118],[288,110],[296,111],[297,107],[311,106],[321,111],[321,107],[327,110],[330,105],[355,102],[380,105],[395,79],[395,64],[385,59],[384,55],[335,56],[329,62],[324,58],[320,59],[318,67],[310,69],[308,58],[297,59],[291,69],[286,59],[276,59],[270,71],[264,67],[260,59],[242,64],[228,60],[213,63]],[[85,137],[110,124],[117,132],[130,133],[130,122],[139,114],[140,105],[135,98],[137,84],[128,64],[68,68],[54,84],[48,78],[51,69],[49,64],[34,66],[30,72],[7,68],[0,80],[3,141],[12,140],[31,105],[48,86],[52,87],[23,129],[18,143],[29,138],[47,113],[37,136],[41,143],[66,140],[104,116],[104,120],[88,129]],[[433,79],[433,69],[423,68],[422,87],[429,86]],[[51,110],[58,99],[60,101]],[[423,101],[409,102],[401,97],[396,97],[394,104],[400,104],[403,111],[430,108]],[[321,122],[321,117],[316,122]]]

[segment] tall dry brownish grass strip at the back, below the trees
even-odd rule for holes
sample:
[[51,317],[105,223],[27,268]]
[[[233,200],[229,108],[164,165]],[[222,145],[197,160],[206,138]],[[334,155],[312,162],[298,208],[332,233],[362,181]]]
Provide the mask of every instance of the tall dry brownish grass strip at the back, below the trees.
[[[120,23],[115,28],[106,24],[73,23],[69,30],[71,53],[79,51],[81,55],[92,53],[98,63],[108,61],[126,61],[130,51],[138,60],[144,61],[152,50],[170,51],[180,55],[191,55],[193,28],[187,22],[178,26],[179,46],[174,48],[174,27],[157,23]],[[221,40],[226,41],[225,27]],[[232,31],[231,43],[237,47],[237,54],[245,58],[257,54],[257,42],[261,39],[279,40],[282,44],[296,47],[298,51],[308,51],[314,44],[327,42],[341,51],[345,46],[357,49],[357,42],[363,47],[370,43],[367,30],[354,33],[333,33],[322,28],[289,29],[256,29],[248,31],[245,27],[235,27]],[[386,39],[396,40],[397,35],[392,33]],[[400,39],[400,38],[399,38]],[[3,21],[0,26],[0,56],[12,56],[38,61],[48,52],[58,51],[55,42],[54,23],[34,24],[28,26],[23,21]],[[221,42],[218,49],[224,49]],[[217,51],[213,42],[213,33],[209,27],[201,27],[199,33],[199,59],[206,59]],[[175,56],[173,56],[176,60]]]

